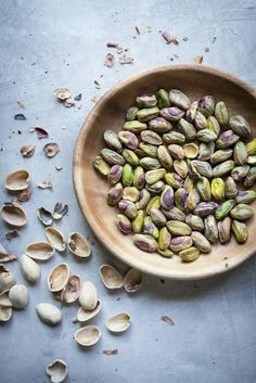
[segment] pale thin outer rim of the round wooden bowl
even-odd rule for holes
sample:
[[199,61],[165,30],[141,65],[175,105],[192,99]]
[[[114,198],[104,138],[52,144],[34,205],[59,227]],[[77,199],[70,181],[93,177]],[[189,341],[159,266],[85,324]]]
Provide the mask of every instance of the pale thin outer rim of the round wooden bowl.
[[75,143],[75,150],[74,150],[74,155],[73,155],[73,184],[74,184],[74,190],[76,194],[76,199],[78,202],[78,205],[80,207],[80,210],[84,215],[84,218],[87,220],[89,224],[91,230],[93,231],[94,235],[99,240],[99,242],[106,247],[113,255],[115,255],[118,259],[124,261],[125,264],[129,265],[132,268],[136,268],[144,273],[157,277],[157,278],[166,278],[166,279],[172,279],[172,280],[195,280],[195,279],[203,279],[203,278],[209,278],[214,277],[223,272],[227,272],[239,265],[241,265],[243,261],[248,259],[252,255],[254,255],[254,251],[251,251],[243,256],[239,258],[231,258],[229,259],[229,267],[225,267],[222,264],[215,265],[214,267],[212,266],[210,269],[208,270],[207,268],[204,270],[193,270],[193,275],[191,276],[180,276],[180,275],[171,275],[171,270],[168,270],[167,272],[158,272],[155,271],[152,266],[146,266],[146,263],[143,263],[143,265],[138,261],[138,265],[135,265],[133,261],[130,261],[127,259],[127,257],[124,257],[121,255],[121,252],[116,252],[113,250],[113,247],[108,244],[107,241],[104,241],[100,233],[97,231],[98,227],[94,225],[93,219],[90,217],[90,214],[88,214],[88,208],[87,204],[82,204],[81,201],[84,200],[84,187],[82,187],[82,181],[81,181],[81,174],[80,169],[76,166],[76,164],[79,162],[80,154],[82,151],[82,145],[81,142],[84,142],[88,136],[88,125],[91,124],[91,120],[93,119],[94,114],[97,114],[97,111],[101,108],[101,106],[107,102],[111,97],[118,91],[120,88],[124,86],[129,85],[130,82],[136,81],[137,79],[144,77],[145,75],[151,75],[153,73],[157,72],[168,72],[168,71],[195,71],[195,72],[202,72],[204,74],[209,74],[209,75],[217,75],[218,77],[221,77],[226,80],[229,80],[235,85],[238,85],[240,88],[244,89],[246,92],[248,92],[256,101],[256,89],[251,87],[247,82],[242,80],[240,77],[219,69],[215,68],[212,66],[206,66],[206,65],[199,65],[199,64],[178,64],[178,65],[161,65],[161,66],[154,66],[144,71],[140,71],[123,80],[118,80],[111,89],[108,89],[102,98],[92,106],[91,111],[88,113],[85,122],[82,123],[82,126],[80,128],[80,131],[78,133],[76,143]]

